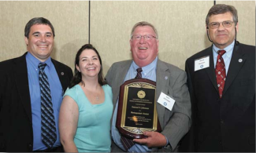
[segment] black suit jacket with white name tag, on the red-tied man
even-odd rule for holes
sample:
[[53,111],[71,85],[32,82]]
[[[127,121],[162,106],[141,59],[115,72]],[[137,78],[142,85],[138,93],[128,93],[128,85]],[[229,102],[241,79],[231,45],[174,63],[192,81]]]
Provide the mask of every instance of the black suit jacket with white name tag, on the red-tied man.
[[[210,56],[210,67],[195,71],[195,60]],[[255,152],[255,46],[236,45],[220,99],[212,47],[186,61],[192,126],[180,151]]]

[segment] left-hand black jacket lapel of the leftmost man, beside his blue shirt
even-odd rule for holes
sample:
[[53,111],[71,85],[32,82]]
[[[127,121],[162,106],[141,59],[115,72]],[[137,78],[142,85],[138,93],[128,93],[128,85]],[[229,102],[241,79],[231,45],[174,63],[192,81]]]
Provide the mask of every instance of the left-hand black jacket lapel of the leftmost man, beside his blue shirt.
[[29,120],[32,122],[32,108],[31,108],[31,100],[28,86],[28,68],[26,62],[26,54],[14,60],[14,79],[17,85],[17,90],[20,97],[20,102],[24,106],[24,110],[26,111]]

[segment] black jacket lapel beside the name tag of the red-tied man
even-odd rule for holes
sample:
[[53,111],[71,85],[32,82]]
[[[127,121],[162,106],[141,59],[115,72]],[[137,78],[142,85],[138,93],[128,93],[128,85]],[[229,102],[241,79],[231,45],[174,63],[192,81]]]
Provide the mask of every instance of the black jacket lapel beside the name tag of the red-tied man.
[[217,80],[216,80],[215,67],[214,67],[214,62],[213,62],[213,46],[207,50],[206,56],[208,56],[208,55],[210,55],[210,64],[209,64],[209,68],[206,68],[206,72],[207,72],[207,75],[210,78],[210,81],[212,82],[214,88],[218,92],[219,90],[217,88]]

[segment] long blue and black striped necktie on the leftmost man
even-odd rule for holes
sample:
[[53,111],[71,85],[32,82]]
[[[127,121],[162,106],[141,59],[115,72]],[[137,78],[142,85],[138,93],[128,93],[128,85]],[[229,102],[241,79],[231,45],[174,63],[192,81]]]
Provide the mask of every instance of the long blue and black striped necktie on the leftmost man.
[[56,139],[56,126],[54,119],[54,109],[50,96],[50,86],[47,75],[44,71],[46,64],[39,63],[39,85],[41,92],[41,136],[43,144],[47,148],[52,148]]

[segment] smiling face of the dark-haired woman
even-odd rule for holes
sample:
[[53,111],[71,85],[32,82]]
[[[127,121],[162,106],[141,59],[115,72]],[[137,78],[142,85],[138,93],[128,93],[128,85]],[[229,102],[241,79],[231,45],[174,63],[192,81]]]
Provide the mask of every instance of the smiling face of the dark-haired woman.
[[93,49],[84,49],[80,54],[79,65],[76,64],[76,69],[81,72],[82,78],[98,78],[101,64],[97,53]]

